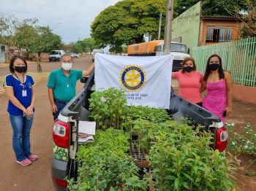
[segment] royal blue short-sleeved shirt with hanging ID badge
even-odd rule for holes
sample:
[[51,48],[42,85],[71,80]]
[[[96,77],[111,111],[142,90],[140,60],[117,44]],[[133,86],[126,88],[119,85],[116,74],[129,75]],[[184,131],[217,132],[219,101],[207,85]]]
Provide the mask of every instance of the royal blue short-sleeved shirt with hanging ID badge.
[[[15,77],[15,75],[9,74],[4,78],[3,87],[12,87],[13,94],[15,98],[20,101],[25,108],[29,107],[32,99],[32,87],[34,85],[34,80],[29,75],[24,75],[24,83]],[[24,92],[23,92],[24,91]],[[23,111],[18,109],[11,101],[8,103],[7,112],[11,115],[22,115]]]

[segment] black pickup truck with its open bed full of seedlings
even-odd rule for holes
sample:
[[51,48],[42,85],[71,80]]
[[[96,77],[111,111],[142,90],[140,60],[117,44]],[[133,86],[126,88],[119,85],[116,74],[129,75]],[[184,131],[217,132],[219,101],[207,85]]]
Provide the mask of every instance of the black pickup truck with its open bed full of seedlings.
[[[94,92],[94,72],[89,78],[81,82],[86,84],[74,98],[64,107],[59,118],[53,125],[53,160],[51,172],[56,190],[67,190],[66,178],[78,176],[78,162],[75,154],[78,151],[78,125],[80,121],[89,120],[89,98]],[[227,129],[222,120],[211,112],[196,104],[184,100],[180,96],[170,93],[170,107],[168,113],[173,120],[187,117],[193,125],[200,125],[214,135],[213,149],[224,151],[227,147]]]

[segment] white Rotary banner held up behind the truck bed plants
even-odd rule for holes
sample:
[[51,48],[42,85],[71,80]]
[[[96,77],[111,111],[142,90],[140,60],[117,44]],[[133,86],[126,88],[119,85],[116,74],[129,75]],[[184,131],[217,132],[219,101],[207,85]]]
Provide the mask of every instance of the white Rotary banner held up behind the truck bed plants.
[[169,109],[173,57],[95,55],[95,88],[121,87],[129,105]]

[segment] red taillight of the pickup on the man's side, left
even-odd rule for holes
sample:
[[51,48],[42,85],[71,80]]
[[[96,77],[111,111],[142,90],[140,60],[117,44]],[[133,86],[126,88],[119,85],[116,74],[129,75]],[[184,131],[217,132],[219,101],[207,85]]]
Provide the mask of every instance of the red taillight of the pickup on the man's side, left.
[[54,143],[63,148],[69,146],[69,124],[56,120],[53,125],[53,141]]

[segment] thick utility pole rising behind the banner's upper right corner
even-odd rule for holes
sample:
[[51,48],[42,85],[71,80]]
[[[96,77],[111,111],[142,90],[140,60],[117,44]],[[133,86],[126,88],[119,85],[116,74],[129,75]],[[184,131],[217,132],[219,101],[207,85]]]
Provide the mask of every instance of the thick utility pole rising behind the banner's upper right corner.
[[170,43],[172,35],[172,20],[173,20],[173,1],[167,0],[166,19],[165,19],[165,42],[164,42],[164,55],[170,52]]

